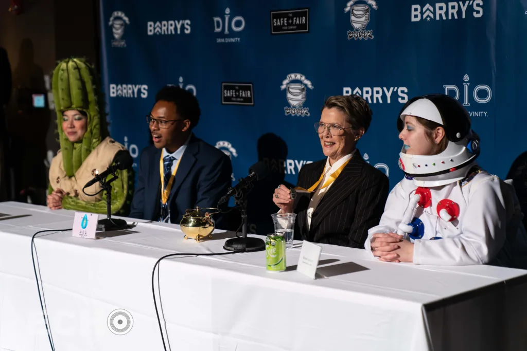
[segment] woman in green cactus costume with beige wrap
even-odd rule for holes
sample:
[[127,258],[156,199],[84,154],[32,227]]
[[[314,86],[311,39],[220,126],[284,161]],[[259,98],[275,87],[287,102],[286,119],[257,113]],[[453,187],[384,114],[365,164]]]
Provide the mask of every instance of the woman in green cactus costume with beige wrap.
[[[53,72],[53,99],[61,149],[50,167],[48,207],[106,213],[106,194],[96,183],[82,191],[95,172],[105,171],[126,148],[108,136],[104,105],[93,68],[82,58],[61,61]],[[112,214],[128,214],[133,195],[131,170],[117,171]],[[112,177],[111,175],[109,177]]]

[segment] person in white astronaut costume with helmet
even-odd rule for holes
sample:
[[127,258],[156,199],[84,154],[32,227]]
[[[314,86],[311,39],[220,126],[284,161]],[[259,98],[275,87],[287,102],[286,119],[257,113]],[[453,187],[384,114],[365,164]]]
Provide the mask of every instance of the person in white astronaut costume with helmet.
[[518,199],[512,185],[476,164],[480,141],[465,108],[447,95],[418,96],[397,128],[405,177],[365,248],[385,262],[527,269]]

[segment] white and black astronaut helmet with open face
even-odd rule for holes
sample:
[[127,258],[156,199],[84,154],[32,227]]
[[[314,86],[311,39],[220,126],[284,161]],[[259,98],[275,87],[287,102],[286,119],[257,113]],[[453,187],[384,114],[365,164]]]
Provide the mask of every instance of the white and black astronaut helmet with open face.
[[463,179],[480,155],[480,138],[471,129],[469,113],[453,97],[444,94],[417,96],[409,100],[397,118],[399,133],[405,116],[440,124],[445,129],[446,148],[437,155],[408,155],[403,148],[399,167],[418,186],[440,186]]

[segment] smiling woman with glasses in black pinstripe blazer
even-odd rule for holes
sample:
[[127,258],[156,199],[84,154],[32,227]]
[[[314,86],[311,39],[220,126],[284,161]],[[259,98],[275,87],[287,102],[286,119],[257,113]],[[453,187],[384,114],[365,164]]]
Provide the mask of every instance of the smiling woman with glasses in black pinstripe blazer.
[[324,103],[315,130],[327,158],[300,169],[294,198],[284,185],[273,197],[280,213],[297,214],[295,239],[364,248],[389,190],[388,177],[356,149],[371,121],[372,111],[358,95],[331,96]]

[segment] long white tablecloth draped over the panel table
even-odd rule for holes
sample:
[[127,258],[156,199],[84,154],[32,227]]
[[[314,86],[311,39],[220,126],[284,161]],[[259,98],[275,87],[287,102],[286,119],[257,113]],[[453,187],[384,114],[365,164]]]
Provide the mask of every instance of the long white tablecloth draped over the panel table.
[[[0,350],[51,350],[31,237],[71,228],[74,212],[11,202],[0,213],[15,216],[0,217]],[[217,230],[196,243],[178,228],[140,221],[97,240],[39,234],[34,252],[55,350],[163,350],[154,263],[170,253],[225,252],[233,236]],[[155,285],[167,349],[527,349],[527,271],[382,263],[361,249],[321,246],[315,280],[295,270],[300,248],[288,250],[281,273],[267,272],[265,252],[163,260]],[[116,309],[133,318],[124,335],[107,324]]]

